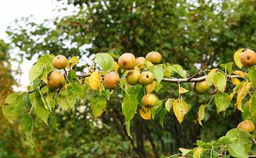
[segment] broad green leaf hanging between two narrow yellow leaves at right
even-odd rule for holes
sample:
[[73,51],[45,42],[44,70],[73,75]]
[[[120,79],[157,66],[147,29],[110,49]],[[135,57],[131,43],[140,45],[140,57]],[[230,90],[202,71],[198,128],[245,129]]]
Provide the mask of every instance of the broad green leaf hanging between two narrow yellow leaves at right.
[[217,94],[214,95],[214,102],[217,107],[218,114],[221,111],[225,111],[230,104],[229,94],[217,92]]

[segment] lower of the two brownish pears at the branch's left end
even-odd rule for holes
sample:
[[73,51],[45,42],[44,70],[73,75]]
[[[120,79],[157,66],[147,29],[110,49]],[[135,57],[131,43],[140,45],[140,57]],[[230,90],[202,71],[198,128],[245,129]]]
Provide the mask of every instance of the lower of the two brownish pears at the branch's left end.
[[53,71],[48,75],[48,87],[50,89],[60,88],[65,84],[65,78],[61,72]]

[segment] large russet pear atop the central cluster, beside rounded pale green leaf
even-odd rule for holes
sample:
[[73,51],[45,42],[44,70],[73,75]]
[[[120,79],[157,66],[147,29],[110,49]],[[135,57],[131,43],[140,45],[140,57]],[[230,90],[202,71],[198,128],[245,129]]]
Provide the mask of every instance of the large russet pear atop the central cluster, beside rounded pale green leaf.
[[136,64],[136,58],[131,53],[122,54],[118,59],[118,65],[124,70],[131,70]]

